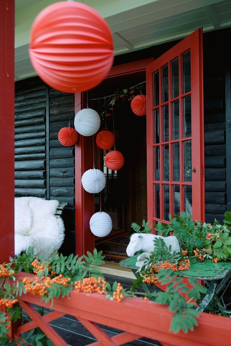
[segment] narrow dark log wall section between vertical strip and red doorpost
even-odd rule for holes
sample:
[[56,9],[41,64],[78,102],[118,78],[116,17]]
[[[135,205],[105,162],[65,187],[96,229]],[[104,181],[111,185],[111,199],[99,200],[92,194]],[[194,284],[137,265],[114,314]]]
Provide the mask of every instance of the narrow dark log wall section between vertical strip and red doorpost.
[[60,248],[63,254],[75,252],[75,147],[64,147],[58,141],[58,132],[71,126],[74,120],[74,94],[67,94],[50,89],[50,199],[69,203],[63,219],[65,223],[65,240]]

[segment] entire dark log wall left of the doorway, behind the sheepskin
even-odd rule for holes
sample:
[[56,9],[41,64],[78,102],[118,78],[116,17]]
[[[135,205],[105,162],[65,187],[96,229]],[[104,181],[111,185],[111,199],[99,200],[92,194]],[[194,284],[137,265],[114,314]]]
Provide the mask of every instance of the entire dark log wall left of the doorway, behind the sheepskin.
[[[65,241],[60,251],[63,254],[75,252],[75,148],[62,146],[57,138],[58,131],[68,126],[69,119],[73,125],[73,94],[49,90],[38,77],[16,82],[15,195],[69,203],[62,216]],[[46,153],[49,153],[48,160]]]

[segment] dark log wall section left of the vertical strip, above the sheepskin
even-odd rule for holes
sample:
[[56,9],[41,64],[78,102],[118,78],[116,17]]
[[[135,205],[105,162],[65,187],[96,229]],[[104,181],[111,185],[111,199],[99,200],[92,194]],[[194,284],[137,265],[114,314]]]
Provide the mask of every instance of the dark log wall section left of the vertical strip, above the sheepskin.
[[46,85],[15,84],[15,195],[46,198]]

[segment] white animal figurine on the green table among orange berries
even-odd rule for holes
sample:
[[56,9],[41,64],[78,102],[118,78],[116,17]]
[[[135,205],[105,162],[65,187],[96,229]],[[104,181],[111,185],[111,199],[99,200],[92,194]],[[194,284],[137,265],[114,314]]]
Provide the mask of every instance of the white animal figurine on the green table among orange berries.
[[137,251],[144,251],[143,254],[137,257],[136,266],[140,269],[144,266],[145,257],[150,257],[151,252],[154,251],[155,244],[153,240],[156,238],[162,238],[167,247],[171,245],[171,253],[173,253],[173,251],[180,252],[180,244],[175,236],[162,237],[155,234],[134,233],[131,236],[126,251],[128,257],[134,256]]

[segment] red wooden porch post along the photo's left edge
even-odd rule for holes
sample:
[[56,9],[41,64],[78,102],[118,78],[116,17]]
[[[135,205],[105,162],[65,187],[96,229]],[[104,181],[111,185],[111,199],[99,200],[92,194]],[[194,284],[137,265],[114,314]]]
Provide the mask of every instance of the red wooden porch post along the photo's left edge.
[[14,255],[15,1],[0,1],[0,263]]

